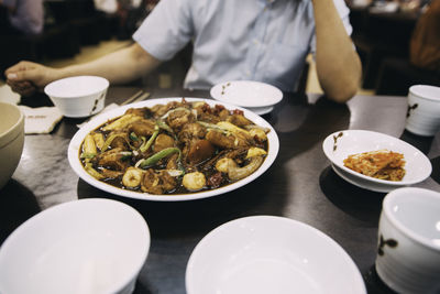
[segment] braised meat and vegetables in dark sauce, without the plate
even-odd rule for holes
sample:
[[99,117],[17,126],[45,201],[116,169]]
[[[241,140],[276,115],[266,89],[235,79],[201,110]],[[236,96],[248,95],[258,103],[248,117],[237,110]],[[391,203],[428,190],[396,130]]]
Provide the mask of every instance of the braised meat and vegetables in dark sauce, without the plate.
[[243,111],[205,101],[131,108],[88,133],[84,168],[98,181],[154,195],[216,189],[255,172],[267,128]]

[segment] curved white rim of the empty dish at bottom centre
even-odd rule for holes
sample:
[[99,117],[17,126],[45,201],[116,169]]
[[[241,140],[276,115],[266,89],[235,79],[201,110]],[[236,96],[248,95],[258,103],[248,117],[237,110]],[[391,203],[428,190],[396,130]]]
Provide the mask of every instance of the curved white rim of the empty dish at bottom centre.
[[189,257],[187,266],[186,266],[185,286],[186,286],[186,291],[188,294],[191,294],[193,290],[194,290],[194,285],[193,285],[193,281],[190,280],[191,279],[190,275],[191,275],[191,269],[194,268],[193,264],[194,264],[195,260],[197,259],[197,254],[198,254],[200,248],[204,248],[205,246],[207,246],[207,243],[209,244],[209,242],[212,239],[215,239],[219,232],[226,230],[228,227],[234,227],[234,226],[241,224],[242,221],[253,221],[253,220],[261,220],[261,219],[268,220],[268,221],[283,221],[283,222],[288,222],[294,226],[300,226],[302,228],[306,228],[308,231],[315,233],[316,236],[319,236],[323,241],[328,242],[328,244],[331,246],[332,249],[338,251],[338,253],[344,260],[346,265],[351,266],[351,269],[353,270],[353,274],[356,276],[356,281],[355,281],[356,284],[359,284],[360,287],[362,288],[361,291],[366,294],[365,283],[362,279],[362,275],[361,275],[361,272],[359,271],[358,265],[354,263],[353,259],[349,255],[349,253],[337,241],[334,241],[327,233],[318,230],[317,228],[315,228],[310,225],[307,225],[306,222],[295,220],[292,218],[287,218],[287,217],[283,217],[283,216],[274,216],[274,215],[253,215],[253,216],[246,216],[246,217],[232,219],[230,221],[227,221],[227,222],[218,226],[217,228],[215,228],[210,232],[208,232],[194,248],[194,250]]

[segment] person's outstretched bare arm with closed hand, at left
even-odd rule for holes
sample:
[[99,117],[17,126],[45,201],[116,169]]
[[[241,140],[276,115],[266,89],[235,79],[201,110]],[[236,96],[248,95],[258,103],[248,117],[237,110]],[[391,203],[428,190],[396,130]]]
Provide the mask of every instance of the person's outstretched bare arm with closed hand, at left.
[[12,90],[26,96],[34,90],[42,90],[53,80],[78,75],[96,75],[107,78],[110,84],[124,84],[150,73],[160,63],[134,43],[84,64],[53,68],[36,63],[20,62],[8,68],[4,74]]

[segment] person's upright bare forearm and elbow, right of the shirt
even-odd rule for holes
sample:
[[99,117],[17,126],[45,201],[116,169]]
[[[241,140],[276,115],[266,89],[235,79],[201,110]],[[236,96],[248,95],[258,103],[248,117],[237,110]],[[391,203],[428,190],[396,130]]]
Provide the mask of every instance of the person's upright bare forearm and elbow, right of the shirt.
[[345,102],[356,94],[362,65],[332,0],[312,0],[316,67],[326,96]]

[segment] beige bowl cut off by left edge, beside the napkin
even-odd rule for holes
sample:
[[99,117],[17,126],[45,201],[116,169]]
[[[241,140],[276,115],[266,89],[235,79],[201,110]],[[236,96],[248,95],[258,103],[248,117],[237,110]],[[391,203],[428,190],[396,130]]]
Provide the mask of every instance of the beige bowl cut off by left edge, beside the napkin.
[[18,106],[0,102],[0,189],[19,165],[24,144],[24,115]]

